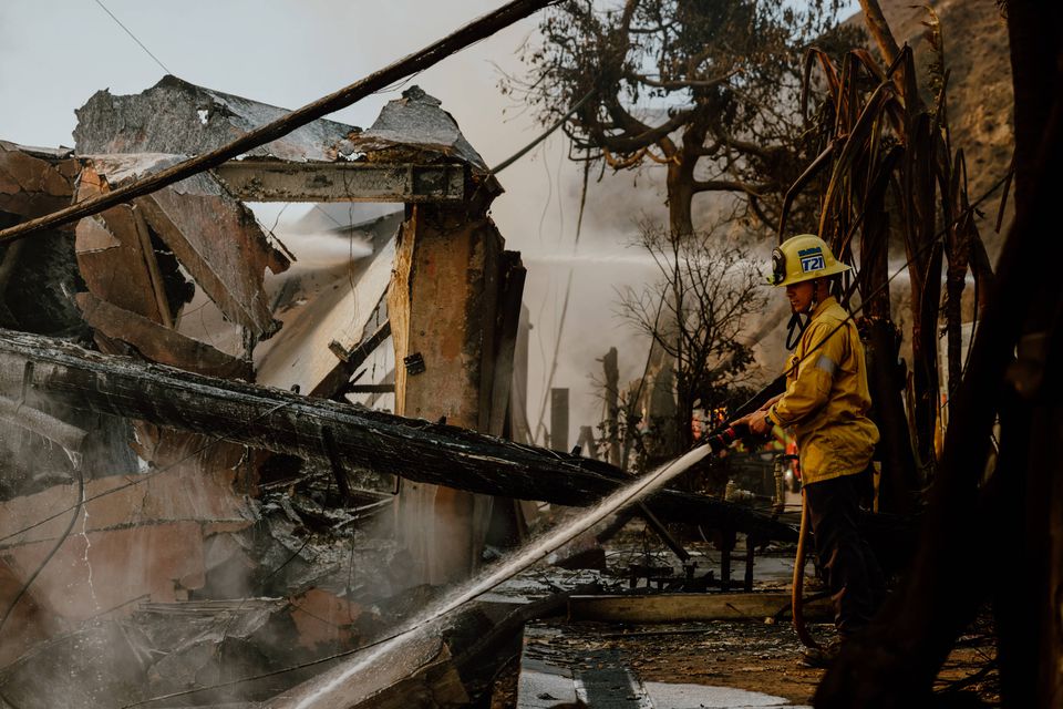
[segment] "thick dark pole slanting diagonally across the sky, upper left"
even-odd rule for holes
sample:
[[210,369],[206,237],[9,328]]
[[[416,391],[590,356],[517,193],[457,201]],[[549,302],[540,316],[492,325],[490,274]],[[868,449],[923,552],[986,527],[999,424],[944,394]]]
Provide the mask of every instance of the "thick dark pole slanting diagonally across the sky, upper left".
[[180,182],[205,169],[217,167],[238,155],[248,153],[271,141],[276,141],[311,121],[344,109],[381,89],[390,86],[396,81],[405,79],[410,74],[423,71],[454,52],[491,37],[498,30],[509,27],[518,20],[523,20],[537,10],[541,10],[550,4],[551,1],[553,0],[514,0],[469,22],[456,32],[433,42],[421,51],[393,62],[384,69],[378,70],[369,76],[340,89],[336,93],[309,103],[266,125],[259,126],[228,145],[186,160],[173,167],[155,173],[144,179],[138,179],[120,189],[93,197],[92,199],[86,199],[85,202],[53,212],[43,217],[30,219],[17,226],[2,229],[0,230],[0,244],[28,236],[48,227],[56,227],[83,217],[92,216],[109,207],[130,202],[134,197],[142,197],[157,189],[162,189],[167,185]]

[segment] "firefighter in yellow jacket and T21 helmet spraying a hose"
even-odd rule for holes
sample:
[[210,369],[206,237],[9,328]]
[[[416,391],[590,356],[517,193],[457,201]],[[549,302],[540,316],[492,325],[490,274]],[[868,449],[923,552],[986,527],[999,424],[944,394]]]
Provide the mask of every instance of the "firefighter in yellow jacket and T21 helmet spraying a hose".
[[[848,269],[811,234],[789,238],[772,253],[771,281],[786,288],[794,312],[787,346],[793,347],[795,331],[799,339],[786,363],[786,391],[742,419],[753,433],[778,424],[792,428],[797,439],[804,500],[839,641],[867,626],[883,587],[878,563],[857,527],[878,442],[878,429],[867,415],[871,399],[864,347],[856,325],[830,295],[833,282]],[[837,645],[806,653],[805,659],[827,662]]]

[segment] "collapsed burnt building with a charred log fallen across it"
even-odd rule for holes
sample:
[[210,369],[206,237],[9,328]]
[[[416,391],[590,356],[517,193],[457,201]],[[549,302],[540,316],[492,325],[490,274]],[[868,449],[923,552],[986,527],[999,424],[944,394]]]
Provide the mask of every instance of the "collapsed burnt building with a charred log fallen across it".
[[[0,143],[0,227],[285,113],[173,76],[97,92],[74,150]],[[318,120],[4,248],[2,701],[266,700],[468,577],[488,541],[524,540],[522,501],[585,506],[629,480],[528,445],[525,271],[488,215],[500,192],[414,86],[368,130]],[[248,202],[396,209],[358,223],[351,207],[333,237],[364,256],[299,270]],[[658,516],[722,531],[724,584],[735,532],[746,584],[755,541],[794,537],[674,490],[640,514],[665,535]],[[391,674],[364,697],[385,706],[415,676],[461,703],[445,636],[380,660]]]

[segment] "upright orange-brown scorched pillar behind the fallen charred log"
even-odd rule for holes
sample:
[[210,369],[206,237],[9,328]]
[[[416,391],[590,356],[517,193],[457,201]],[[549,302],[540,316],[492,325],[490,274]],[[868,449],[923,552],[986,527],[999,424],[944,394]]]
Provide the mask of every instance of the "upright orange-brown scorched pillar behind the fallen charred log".
[[[413,205],[396,247],[388,318],[395,348],[395,411],[476,431],[489,424],[502,236],[473,207]],[[405,362],[419,360],[420,367]],[[446,584],[472,574],[492,500],[451,486],[399,489],[400,538],[422,571]]]

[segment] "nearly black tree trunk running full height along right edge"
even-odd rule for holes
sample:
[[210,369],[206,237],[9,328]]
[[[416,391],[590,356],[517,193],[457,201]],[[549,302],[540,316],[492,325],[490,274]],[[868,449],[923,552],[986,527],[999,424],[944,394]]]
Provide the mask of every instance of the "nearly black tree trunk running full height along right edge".
[[[1028,279],[1031,298],[1021,301],[1019,361],[1010,379],[1022,397],[1022,428],[1008,448],[1018,449],[1018,477],[1007,518],[1009,548],[1019,553],[1019,576],[1001,585],[998,597],[1001,695],[1014,707],[1063,705],[1063,464],[1059,434],[1063,386],[1063,292],[1057,273],[1057,189],[1052,185],[1063,161],[1063,8],[1059,3],[1011,0],[1005,3],[1015,96],[1015,218],[1041,245],[1015,265]],[[1029,225],[1029,226],[1028,226]],[[1000,279],[1005,277],[1003,266]],[[1004,454],[1001,451],[1001,466]],[[1011,547],[1010,544],[1014,544]]]

